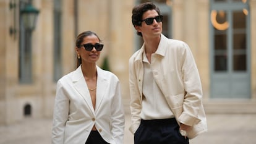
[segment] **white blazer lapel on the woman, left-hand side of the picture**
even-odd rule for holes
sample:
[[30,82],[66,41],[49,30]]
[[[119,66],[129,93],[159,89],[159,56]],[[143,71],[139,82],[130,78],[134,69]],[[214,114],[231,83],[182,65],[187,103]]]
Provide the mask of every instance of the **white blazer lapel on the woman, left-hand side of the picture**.
[[90,108],[90,110],[94,113],[92,99],[90,97],[90,92],[88,90],[87,83],[85,82],[85,78],[83,77],[81,66],[79,66],[74,71],[72,80],[75,90],[80,93],[80,96],[82,96],[83,100],[85,100],[85,102],[87,103],[88,108]]

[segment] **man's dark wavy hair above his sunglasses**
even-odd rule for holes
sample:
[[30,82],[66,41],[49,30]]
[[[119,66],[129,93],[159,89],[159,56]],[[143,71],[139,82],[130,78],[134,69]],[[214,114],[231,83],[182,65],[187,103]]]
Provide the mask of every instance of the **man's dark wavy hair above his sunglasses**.
[[[142,15],[148,10],[155,10],[159,15],[161,15],[160,9],[153,4],[153,2],[139,4],[132,9],[132,25],[134,25],[134,27],[135,25],[142,25]],[[142,36],[142,33],[137,32],[137,35]]]

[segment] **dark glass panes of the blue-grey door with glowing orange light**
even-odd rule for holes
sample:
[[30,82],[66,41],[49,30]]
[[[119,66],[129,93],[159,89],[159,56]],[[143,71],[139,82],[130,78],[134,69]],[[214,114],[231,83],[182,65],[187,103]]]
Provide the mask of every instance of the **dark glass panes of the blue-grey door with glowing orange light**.
[[[226,7],[224,7],[226,6]],[[229,6],[229,8],[227,8]],[[247,70],[248,5],[244,1],[212,2],[214,70]]]

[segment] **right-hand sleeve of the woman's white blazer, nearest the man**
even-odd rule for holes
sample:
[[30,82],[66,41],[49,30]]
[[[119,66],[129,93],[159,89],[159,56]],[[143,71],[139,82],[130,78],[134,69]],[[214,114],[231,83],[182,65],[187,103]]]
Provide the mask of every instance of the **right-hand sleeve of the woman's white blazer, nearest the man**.
[[121,86],[116,83],[114,98],[111,104],[111,133],[115,143],[124,143],[124,108],[122,104]]

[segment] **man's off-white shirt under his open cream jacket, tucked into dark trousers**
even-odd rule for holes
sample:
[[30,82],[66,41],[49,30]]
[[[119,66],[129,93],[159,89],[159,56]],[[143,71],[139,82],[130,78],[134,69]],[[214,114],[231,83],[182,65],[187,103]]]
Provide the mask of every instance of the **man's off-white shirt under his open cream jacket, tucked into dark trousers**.
[[[151,58],[151,62],[153,62],[153,57]],[[148,62],[146,54],[143,53],[143,99],[140,117],[145,120],[172,118],[174,117],[173,112],[153,78],[152,66]]]

